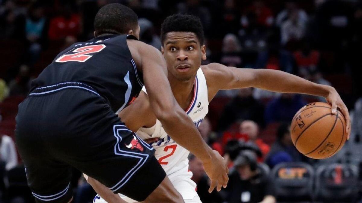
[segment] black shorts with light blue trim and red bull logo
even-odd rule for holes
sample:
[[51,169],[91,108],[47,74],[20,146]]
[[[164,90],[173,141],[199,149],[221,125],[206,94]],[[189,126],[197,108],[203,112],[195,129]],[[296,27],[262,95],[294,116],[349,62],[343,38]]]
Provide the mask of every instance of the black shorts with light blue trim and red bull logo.
[[138,201],[166,176],[153,148],[82,83],[32,91],[19,105],[15,134],[37,202],[70,200],[70,166]]

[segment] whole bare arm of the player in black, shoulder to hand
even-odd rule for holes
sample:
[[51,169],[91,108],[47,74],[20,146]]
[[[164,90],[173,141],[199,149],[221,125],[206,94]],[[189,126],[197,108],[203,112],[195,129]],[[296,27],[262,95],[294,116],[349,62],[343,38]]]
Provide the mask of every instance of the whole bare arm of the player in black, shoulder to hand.
[[205,172],[211,179],[210,190],[217,186],[220,191],[228,182],[227,166],[222,156],[206,144],[191,118],[178,105],[167,79],[166,62],[161,52],[135,40],[127,43],[136,64],[142,67],[148,99],[156,118],[175,142],[203,162]]

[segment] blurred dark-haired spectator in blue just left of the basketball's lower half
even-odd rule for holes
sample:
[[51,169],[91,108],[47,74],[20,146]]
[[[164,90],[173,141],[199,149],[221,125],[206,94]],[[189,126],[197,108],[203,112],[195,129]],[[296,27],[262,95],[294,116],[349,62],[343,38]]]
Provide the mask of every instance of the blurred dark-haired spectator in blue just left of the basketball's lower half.
[[277,131],[277,140],[271,146],[270,152],[266,156],[265,163],[268,164],[270,168],[273,168],[279,163],[302,160],[303,155],[296,150],[290,137],[290,125],[282,123]]

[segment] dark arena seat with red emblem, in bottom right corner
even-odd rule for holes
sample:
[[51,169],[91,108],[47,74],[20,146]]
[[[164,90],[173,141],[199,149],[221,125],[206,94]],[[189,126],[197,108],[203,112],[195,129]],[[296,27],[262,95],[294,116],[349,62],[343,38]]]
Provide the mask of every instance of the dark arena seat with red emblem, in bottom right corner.
[[321,165],[316,170],[316,200],[354,202],[358,195],[358,168],[352,164]]

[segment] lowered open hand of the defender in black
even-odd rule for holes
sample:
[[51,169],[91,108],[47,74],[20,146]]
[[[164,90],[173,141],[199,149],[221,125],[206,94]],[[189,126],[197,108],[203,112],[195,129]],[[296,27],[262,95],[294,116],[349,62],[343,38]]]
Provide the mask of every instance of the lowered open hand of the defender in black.
[[210,160],[203,161],[203,168],[211,180],[209,193],[211,193],[215,187],[217,191],[221,190],[221,187],[226,187],[229,181],[226,163],[224,163],[223,157],[218,151],[213,150]]

